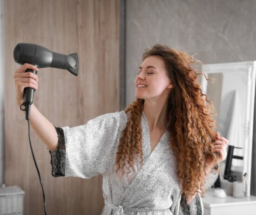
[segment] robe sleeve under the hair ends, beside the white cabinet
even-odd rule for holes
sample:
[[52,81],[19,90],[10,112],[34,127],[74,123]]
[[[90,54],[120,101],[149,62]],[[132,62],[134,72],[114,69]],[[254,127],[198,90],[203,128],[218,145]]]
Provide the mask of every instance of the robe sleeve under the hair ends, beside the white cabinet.
[[188,203],[184,194],[180,194],[170,208],[173,215],[203,215],[203,203],[201,190],[199,190],[192,200]]

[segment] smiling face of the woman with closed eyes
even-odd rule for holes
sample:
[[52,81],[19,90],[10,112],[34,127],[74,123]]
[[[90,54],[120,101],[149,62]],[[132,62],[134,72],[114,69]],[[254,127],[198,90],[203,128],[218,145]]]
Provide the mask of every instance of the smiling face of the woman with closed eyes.
[[[140,99],[151,99],[169,94],[172,84],[165,68],[164,61],[159,56],[147,57],[138,69],[135,78],[135,96]],[[147,87],[138,87],[144,84]]]

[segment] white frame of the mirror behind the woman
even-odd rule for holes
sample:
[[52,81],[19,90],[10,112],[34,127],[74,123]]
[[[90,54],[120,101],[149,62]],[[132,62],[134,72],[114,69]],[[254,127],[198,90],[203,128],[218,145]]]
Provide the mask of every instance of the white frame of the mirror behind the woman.
[[[246,172],[248,177],[245,181],[245,196],[250,196],[251,179],[251,160],[252,160],[252,138],[253,138],[253,117],[255,100],[255,79],[256,79],[256,61],[245,61],[235,63],[213,63],[202,65],[202,72],[208,78],[209,73],[231,73],[242,71],[247,74],[247,103],[246,103],[246,126],[244,129],[244,165],[243,174]],[[230,74],[230,75],[231,75]],[[201,78],[201,87],[203,93],[207,94],[207,80],[204,76]]]

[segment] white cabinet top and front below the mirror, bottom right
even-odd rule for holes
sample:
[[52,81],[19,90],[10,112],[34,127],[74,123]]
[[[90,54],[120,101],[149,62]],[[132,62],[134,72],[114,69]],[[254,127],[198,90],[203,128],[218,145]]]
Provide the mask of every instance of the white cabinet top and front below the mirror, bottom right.
[[214,188],[206,191],[202,197],[203,215],[256,215],[256,196],[235,198],[214,196]]

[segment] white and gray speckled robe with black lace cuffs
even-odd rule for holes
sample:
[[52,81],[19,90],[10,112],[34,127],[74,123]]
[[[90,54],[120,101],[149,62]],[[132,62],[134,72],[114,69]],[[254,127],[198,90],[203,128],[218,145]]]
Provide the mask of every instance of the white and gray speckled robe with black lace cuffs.
[[[105,206],[101,215],[202,215],[200,190],[189,204],[181,194],[177,164],[166,131],[151,152],[148,121],[141,115],[143,165],[135,156],[135,177],[111,174],[119,139],[128,121],[125,111],[100,115],[85,125],[55,127],[57,150],[51,154],[53,177],[103,176]],[[137,154],[138,155],[138,154]],[[131,174],[131,173],[130,173]]]

